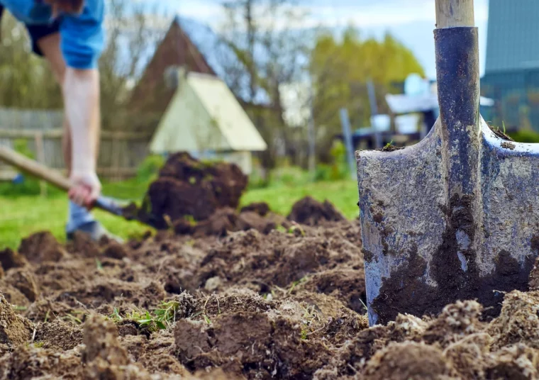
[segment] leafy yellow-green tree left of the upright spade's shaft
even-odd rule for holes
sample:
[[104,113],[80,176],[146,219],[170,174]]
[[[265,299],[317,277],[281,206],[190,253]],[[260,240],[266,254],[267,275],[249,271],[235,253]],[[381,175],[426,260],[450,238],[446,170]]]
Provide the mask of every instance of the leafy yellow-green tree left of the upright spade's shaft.
[[326,152],[333,136],[341,132],[340,108],[348,108],[352,125],[369,125],[367,80],[374,82],[379,112],[387,113],[384,96],[395,91],[395,82],[404,82],[411,73],[424,77],[423,67],[411,50],[390,33],[381,41],[364,40],[352,26],[345,30],[340,42],[327,31],[318,35],[311,53],[310,72],[316,92],[314,118],[317,127],[322,128],[318,154],[323,161],[330,160]]

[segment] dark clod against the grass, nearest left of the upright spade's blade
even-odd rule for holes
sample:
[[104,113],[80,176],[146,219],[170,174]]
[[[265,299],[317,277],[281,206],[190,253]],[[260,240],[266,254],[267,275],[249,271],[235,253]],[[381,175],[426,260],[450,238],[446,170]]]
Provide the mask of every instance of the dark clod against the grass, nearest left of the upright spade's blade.
[[320,203],[311,196],[306,196],[301,201],[294,203],[287,219],[300,224],[315,226],[324,222],[339,222],[345,220],[345,217],[329,201],[326,200]]

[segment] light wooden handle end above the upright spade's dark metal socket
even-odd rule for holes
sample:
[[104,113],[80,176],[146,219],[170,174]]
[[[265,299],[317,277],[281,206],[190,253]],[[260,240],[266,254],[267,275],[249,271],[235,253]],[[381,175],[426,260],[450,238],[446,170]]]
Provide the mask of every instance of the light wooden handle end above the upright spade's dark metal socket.
[[436,28],[475,26],[474,0],[436,0]]

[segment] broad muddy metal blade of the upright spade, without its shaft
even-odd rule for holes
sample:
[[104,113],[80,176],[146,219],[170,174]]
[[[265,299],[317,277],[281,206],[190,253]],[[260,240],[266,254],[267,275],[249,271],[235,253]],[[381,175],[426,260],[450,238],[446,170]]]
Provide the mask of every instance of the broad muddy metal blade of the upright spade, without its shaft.
[[496,315],[504,292],[527,289],[539,255],[539,147],[479,123],[479,194],[469,201],[448,193],[440,120],[417,145],[357,154],[371,325],[465,299]]

